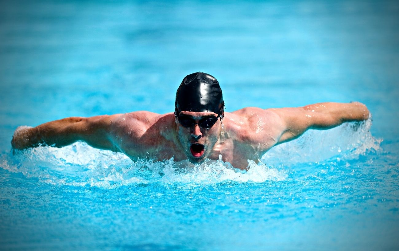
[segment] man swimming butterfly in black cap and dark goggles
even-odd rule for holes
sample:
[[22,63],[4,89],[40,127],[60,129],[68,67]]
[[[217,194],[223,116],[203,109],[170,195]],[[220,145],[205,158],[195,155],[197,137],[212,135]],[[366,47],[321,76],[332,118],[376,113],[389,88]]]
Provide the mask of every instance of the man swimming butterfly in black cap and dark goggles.
[[258,159],[274,145],[290,141],[307,129],[328,129],[369,118],[366,106],[320,103],[299,108],[247,107],[224,112],[219,82],[197,72],[186,76],[176,92],[175,112],[72,117],[37,127],[18,127],[12,147],[39,145],[63,147],[76,141],[119,151],[131,159],[148,157],[201,163],[206,158],[230,162],[247,169],[247,160]]

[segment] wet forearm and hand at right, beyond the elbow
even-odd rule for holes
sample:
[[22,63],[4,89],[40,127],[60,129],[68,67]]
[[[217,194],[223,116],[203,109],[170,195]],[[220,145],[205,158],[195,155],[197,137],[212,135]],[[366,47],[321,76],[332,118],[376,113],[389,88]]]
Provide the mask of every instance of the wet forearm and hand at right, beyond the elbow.
[[369,110],[359,102],[319,103],[304,106],[305,116],[309,118],[309,128],[328,129],[344,122],[362,121],[369,118]]

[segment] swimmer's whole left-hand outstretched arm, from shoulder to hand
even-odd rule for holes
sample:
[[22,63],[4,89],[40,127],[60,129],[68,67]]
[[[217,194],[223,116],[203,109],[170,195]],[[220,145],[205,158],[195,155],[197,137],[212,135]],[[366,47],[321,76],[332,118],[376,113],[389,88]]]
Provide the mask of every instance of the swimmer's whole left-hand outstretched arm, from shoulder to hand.
[[40,144],[63,147],[76,141],[85,141],[96,148],[116,151],[110,139],[111,124],[116,116],[71,117],[36,127],[18,127],[11,145],[15,149],[26,149]]

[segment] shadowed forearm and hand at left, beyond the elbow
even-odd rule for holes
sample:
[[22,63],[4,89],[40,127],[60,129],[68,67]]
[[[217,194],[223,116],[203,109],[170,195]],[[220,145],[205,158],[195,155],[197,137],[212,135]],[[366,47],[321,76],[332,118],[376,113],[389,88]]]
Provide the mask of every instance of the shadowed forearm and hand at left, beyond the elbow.
[[82,120],[83,118],[80,117],[72,117],[36,127],[18,127],[14,132],[11,145],[16,149],[37,147],[41,144],[55,147],[69,145],[80,139],[76,125]]

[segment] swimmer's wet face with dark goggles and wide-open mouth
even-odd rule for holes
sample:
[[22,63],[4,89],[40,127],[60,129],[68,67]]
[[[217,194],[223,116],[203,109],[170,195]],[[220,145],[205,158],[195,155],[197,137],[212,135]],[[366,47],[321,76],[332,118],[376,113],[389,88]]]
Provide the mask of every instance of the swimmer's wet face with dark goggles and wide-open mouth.
[[182,111],[176,117],[177,139],[188,160],[201,163],[219,139],[220,118],[214,112]]

